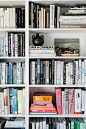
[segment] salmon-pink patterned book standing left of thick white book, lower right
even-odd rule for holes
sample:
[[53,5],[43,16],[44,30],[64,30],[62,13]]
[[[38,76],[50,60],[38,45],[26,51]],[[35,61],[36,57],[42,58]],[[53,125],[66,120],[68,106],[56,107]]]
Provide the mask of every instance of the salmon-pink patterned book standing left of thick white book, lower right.
[[68,93],[68,103],[69,103],[69,114],[74,114],[75,112],[75,90],[69,89]]

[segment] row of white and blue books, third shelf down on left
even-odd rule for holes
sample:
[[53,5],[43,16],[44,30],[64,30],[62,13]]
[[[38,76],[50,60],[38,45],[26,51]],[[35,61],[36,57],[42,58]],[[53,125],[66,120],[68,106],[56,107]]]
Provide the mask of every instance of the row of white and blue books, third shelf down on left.
[[24,84],[24,76],[25,61],[0,63],[0,84]]

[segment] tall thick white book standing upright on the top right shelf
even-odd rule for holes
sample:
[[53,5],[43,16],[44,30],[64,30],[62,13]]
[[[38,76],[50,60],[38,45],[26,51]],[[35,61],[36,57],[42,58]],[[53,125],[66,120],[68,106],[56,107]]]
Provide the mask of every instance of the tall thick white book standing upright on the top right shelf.
[[55,5],[50,5],[50,28],[54,28]]

